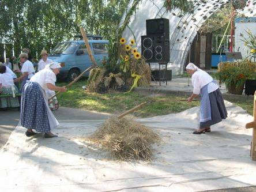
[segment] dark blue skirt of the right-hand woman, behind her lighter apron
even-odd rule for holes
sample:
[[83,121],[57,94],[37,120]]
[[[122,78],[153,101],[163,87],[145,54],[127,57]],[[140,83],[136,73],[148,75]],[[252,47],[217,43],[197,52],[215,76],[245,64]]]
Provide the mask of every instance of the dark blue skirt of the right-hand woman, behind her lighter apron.
[[200,128],[209,127],[227,118],[228,113],[220,89],[209,93],[211,120],[200,122]]

